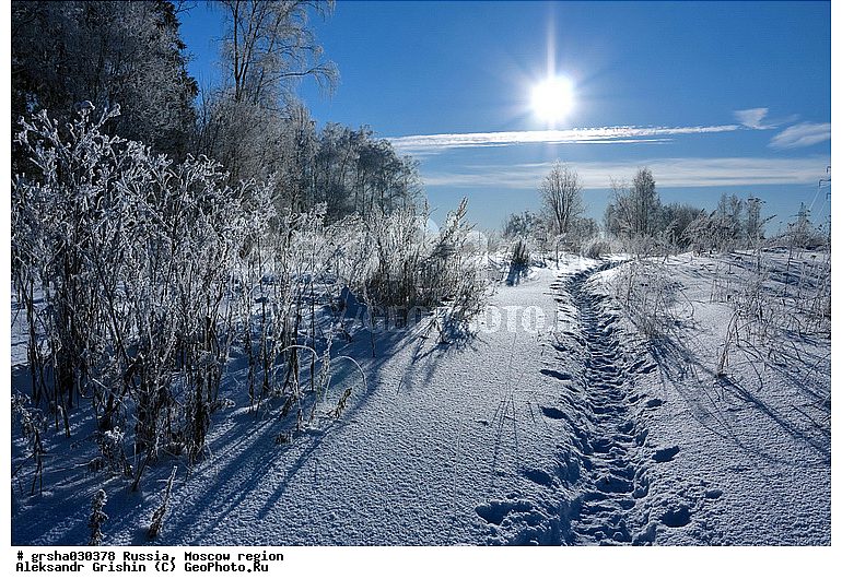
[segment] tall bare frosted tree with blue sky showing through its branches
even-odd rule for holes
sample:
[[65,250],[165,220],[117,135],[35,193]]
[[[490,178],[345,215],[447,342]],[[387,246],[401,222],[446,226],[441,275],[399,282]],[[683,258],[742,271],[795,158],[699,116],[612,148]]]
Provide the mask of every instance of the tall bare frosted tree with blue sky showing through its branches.
[[[231,182],[266,180],[291,170],[307,173],[309,158],[302,130],[312,132],[308,115],[294,97],[299,81],[315,79],[332,88],[337,69],[321,58],[309,15],[326,15],[332,4],[300,0],[224,0],[211,2],[224,14],[223,85],[202,95],[197,151],[225,164]],[[311,147],[312,149],[312,147]],[[312,154],[309,155],[312,157]],[[290,169],[290,167],[292,167]],[[299,204],[301,184],[289,184],[289,202]]]

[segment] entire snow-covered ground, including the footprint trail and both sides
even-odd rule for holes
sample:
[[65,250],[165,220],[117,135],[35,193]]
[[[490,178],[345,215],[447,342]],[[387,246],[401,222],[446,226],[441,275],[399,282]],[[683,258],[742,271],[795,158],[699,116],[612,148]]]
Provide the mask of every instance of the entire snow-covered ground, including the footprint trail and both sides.
[[[49,429],[31,495],[13,424],[12,543],[86,544],[104,488],[114,545],[829,544],[830,334],[793,309],[827,256],[764,259],[762,275],[689,253],[635,274],[625,258],[566,257],[500,284],[472,339],[419,324],[379,334],[372,356],[352,328],[335,354],[366,388],[337,361],[334,400],[358,385],[344,412],[281,444],[280,409],[248,412],[232,371],[203,460],[162,459],[137,493],[74,462],[96,449],[83,406],[71,438]],[[656,290],[667,308],[647,318]]]

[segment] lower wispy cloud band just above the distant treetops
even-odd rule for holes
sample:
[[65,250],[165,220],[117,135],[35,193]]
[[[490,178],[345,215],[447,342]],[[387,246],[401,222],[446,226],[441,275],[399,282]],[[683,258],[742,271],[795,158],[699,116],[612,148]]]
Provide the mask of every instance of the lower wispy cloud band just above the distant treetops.
[[[728,187],[757,185],[811,184],[828,159],[822,156],[803,158],[765,157],[675,157],[630,162],[585,162],[573,168],[585,189],[607,189],[611,178],[631,179],[636,167],[652,169],[659,187]],[[473,165],[458,173],[423,173],[428,186],[453,188],[494,187],[535,189],[547,175],[551,163],[527,163],[507,166]]]

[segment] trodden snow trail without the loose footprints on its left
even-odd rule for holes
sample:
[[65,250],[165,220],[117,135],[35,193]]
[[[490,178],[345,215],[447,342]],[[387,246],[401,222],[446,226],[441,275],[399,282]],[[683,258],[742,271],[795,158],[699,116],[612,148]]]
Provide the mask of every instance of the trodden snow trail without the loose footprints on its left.
[[[610,265],[600,270],[607,267]],[[657,449],[654,453],[644,447],[648,430],[639,420],[642,415],[639,409],[654,409],[663,401],[642,400],[628,388],[627,380],[632,374],[654,370],[655,365],[639,358],[627,366],[615,330],[617,316],[600,312],[599,305],[605,297],[584,288],[592,274],[586,271],[572,276],[566,287],[578,311],[581,332],[585,338],[582,381],[590,414],[590,428],[582,446],[587,481],[585,492],[572,509],[570,542],[651,544],[657,524],[650,521],[648,508],[634,507],[648,495],[647,465],[653,461],[673,460],[679,447]],[[660,522],[668,527],[682,527],[689,521],[687,508],[667,511],[660,518]]]

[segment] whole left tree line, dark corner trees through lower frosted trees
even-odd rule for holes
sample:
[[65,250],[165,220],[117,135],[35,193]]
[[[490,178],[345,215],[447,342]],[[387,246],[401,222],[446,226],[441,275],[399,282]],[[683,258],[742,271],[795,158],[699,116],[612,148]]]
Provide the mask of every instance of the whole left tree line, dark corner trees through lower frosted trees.
[[[420,202],[417,164],[371,128],[316,129],[295,87],[338,81],[309,19],[332,2],[225,0],[210,3],[225,21],[220,85],[200,91],[187,71],[179,33],[184,5],[167,0],[12,2],[12,122],[47,110],[61,126],[80,106],[103,114],[103,130],[175,161],[201,155],[222,163],[229,185],[271,182],[279,209],[329,218],[390,212]],[[96,117],[92,115],[93,117]],[[16,144],[13,174],[37,173]]]

